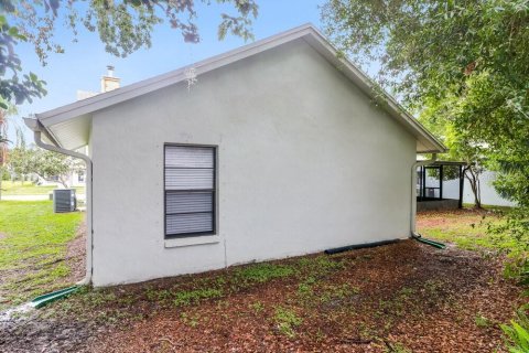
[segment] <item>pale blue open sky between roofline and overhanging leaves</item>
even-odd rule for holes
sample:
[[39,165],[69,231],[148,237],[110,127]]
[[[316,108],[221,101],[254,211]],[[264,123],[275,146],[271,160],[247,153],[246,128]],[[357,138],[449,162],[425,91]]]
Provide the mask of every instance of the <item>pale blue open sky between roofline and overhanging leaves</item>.
[[[258,18],[253,21],[253,35],[261,40],[294,26],[311,22],[322,28],[319,6],[324,0],[257,0]],[[197,44],[184,43],[179,31],[162,23],[152,33],[150,49],[141,49],[126,58],[118,58],[106,53],[97,33],[80,31],[77,43],[73,43],[73,33],[57,23],[57,42],[65,53],[50,53],[47,64],[42,66],[32,45],[20,43],[17,52],[22,61],[24,72],[33,72],[46,82],[47,95],[34,99],[32,104],[18,107],[18,115],[12,118],[9,131],[13,138],[14,126],[25,129],[22,117],[43,113],[76,100],[80,90],[99,92],[100,78],[106,74],[107,65],[115,66],[115,76],[121,79],[121,86],[160,75],[194,62],[214,56],[247,43],[242,39],[227,35],[218,41],[217,29],[220,13],[234,13],[233,8],[219,6],[212,1],[210,6],[197,4],[196,24],[201,35]],[[231,10],[231,12],[229,12]],[[29,130],[26,140],[31,141]]]

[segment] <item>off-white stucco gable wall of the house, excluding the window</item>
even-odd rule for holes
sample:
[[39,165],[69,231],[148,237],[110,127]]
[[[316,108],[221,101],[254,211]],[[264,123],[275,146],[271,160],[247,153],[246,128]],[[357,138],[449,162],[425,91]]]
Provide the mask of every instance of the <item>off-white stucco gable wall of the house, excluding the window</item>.
[[[197,79],[94,116],[96,286],[409,235],[414,138],[303,40]],[[164,240],[165,142],[218,146],[215,237]]]

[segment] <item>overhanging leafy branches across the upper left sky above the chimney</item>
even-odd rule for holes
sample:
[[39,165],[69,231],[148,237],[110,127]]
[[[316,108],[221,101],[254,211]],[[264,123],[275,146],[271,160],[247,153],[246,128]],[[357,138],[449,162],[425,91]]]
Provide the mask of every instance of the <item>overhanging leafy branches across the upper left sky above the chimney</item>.
[[[209,4],[209,0],[201,0]],[[217,0],[231,6],[234,14],[220,13],[218,36],[226,34],[252,38],[251,23],[257,17],[255,0]],[[17,105],[46,94],[45,82],[33,73],[24,74],[17,55],[17,43],[30,42],[45,65],[48,53],[63,53],[55,42],[57,26],[66,26],[75,39],[79,26],[97,32],[107,52],[125,57],[151,45],[155,25],[166,20],[185,42],[199,41],[195,24],[197,13],[194,0],[4,0],[0,2],[0,96]],[[0,101],[0,107],[6,108]]]

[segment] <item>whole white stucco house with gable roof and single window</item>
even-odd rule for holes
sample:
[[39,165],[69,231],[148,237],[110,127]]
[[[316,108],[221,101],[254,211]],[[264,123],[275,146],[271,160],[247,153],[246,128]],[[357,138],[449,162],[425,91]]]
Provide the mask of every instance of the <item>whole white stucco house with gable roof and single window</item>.
[[88,145],[106,286],[409,237],[417,153],[445,148],[371,87],[303,25],[26,124]]

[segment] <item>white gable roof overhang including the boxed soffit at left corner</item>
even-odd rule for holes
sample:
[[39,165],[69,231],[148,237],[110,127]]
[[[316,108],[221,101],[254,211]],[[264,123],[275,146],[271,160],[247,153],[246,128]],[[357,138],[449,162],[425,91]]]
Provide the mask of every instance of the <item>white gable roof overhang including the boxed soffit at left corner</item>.
[[[197,62],[192,66],[196,74],[201,75],[300,38],[305,40],[337,69],[355,83],[366,95],[371,98],[376,97],[377,93],[373,88],[374,85],[367,75],[349,61],[338,58],[336,50],[312,24],[298,26],[237,50]],[[88,143],[91,113],[177,84],[185,79],[186,67],[37,114],[36,118],[63,148],[75,149],[85,146]],[[384,100],[382,106],[385,110],[417,138],[417,152],[446,151],[446,148],[420,125],[417,119],[411,117],[390,95],[384,93]]]

